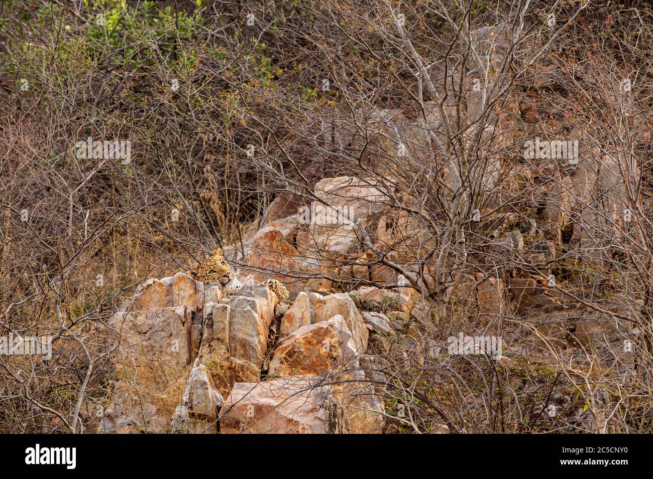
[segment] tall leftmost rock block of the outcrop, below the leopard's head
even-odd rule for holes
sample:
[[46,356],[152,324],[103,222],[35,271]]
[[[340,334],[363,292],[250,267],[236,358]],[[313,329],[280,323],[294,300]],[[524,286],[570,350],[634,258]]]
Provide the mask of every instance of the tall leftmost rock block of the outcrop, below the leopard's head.
[[103,432],[167,431],[197,355],[204,290],[183,273],[149,280],[109,322],[116,385]]

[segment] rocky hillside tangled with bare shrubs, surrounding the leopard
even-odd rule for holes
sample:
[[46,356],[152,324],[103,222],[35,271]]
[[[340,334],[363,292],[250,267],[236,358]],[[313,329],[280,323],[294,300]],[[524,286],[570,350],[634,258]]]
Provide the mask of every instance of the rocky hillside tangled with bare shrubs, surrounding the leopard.
[[[652,29],[639,1],[4,1],[0,338],[52,355],[0,339],[0,431],[651,432]],[[177,274],[218,247],[240,296]],[[306,423],[261,409],[297,394]]]

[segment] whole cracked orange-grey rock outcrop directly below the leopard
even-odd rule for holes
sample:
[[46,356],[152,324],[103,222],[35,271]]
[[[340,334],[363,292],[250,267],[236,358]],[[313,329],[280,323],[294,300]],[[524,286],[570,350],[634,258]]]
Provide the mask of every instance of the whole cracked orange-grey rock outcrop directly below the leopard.
[[[277,319],[275,304],[267,287],[222,297],[183,273],[138,287],[109,321],[101,431],[378,431],[383,406],[358,362],[371,327],[352,298],[302,291]],[[275,321],[285,337],[270,351]]]

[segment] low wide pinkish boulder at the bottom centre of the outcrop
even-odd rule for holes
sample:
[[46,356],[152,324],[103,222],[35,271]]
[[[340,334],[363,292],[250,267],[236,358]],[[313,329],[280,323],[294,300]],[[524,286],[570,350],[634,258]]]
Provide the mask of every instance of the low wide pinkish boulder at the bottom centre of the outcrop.
[[342,407],[331,386],[315,376],[237,383],[221,413],[222,433],[345,433]]

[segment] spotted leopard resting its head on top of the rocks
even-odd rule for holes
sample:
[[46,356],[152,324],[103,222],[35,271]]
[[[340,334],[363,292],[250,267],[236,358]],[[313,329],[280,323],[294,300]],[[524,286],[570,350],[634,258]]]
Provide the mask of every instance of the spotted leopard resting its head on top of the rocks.
[[[195,281],[201,281],[204,284],[219,283],[223,296],[231,295],[240,291],[243,285],[236,278],[236,272],[231,268],[222,248],[216,248],[213,255],[199,262],[197,267],[189,269],[186,274]],[[274,296],[276,302],[283,302],[289,297],[288,290],[279,280],[269,279],[259,286],[266,286]]]

